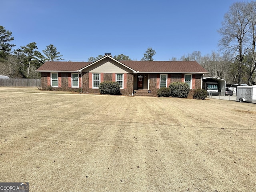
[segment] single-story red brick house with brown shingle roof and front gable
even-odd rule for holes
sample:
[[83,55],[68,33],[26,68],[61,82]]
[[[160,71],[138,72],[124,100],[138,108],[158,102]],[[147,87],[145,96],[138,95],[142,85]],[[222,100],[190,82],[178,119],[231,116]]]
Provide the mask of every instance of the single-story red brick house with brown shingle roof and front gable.
[[191,90],[202,88],[202,76],[208,73],[195,61],[118,61],[110,55],[95,62],[48,61],[36,71],[41,72],[42,88],[99,93],[101,82],[116,81],[123,95],[150,90],[154,96],[172,82],[186,82]]

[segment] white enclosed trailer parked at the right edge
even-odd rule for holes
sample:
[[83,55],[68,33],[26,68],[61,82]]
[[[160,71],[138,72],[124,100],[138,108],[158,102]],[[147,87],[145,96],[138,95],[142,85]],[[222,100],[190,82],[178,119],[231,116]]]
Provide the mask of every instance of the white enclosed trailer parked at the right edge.
[[236,100],[239,102],[255,102],[256,103],[256,85],[238,86],[236,88]]

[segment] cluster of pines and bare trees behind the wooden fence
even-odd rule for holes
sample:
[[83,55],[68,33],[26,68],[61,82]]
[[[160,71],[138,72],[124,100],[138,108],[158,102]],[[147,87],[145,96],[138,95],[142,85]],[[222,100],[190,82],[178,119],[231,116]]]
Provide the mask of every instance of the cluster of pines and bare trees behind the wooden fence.
[[0,26],[0,74],[9,78],[40,78],[40,73],[35,70],[46,61],[63,60],[57,48],[50,44],[38,51],[36,42],[31,42],[19,49],[12,48],[14,37],[12,32]]

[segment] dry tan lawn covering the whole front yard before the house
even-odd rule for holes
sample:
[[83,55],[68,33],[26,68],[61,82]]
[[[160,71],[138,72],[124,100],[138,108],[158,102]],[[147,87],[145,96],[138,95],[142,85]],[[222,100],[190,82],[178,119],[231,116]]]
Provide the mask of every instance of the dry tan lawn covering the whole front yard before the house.
[[37,93],[46,92],[0,88],[0,182],[29,182],[31,192],[256,191],[256,104]]

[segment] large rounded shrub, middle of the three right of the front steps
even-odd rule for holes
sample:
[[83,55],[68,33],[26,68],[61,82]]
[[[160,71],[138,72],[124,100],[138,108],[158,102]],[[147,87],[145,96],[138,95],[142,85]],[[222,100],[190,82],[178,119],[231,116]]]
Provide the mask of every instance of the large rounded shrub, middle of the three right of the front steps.
[[188,84],[183,82],[174,82],[169,85],[172,97],[188,97],[190,88]]

